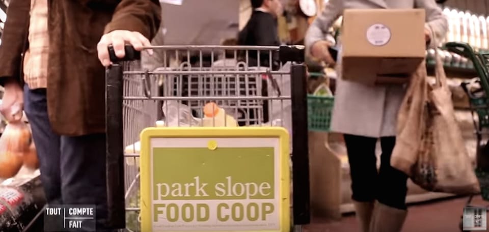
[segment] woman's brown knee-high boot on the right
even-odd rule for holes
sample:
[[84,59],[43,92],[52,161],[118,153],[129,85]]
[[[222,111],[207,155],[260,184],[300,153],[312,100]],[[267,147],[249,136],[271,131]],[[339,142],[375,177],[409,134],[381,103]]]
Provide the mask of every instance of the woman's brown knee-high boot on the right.
[[376,202],[369,232],[400,232],[408,211]]

